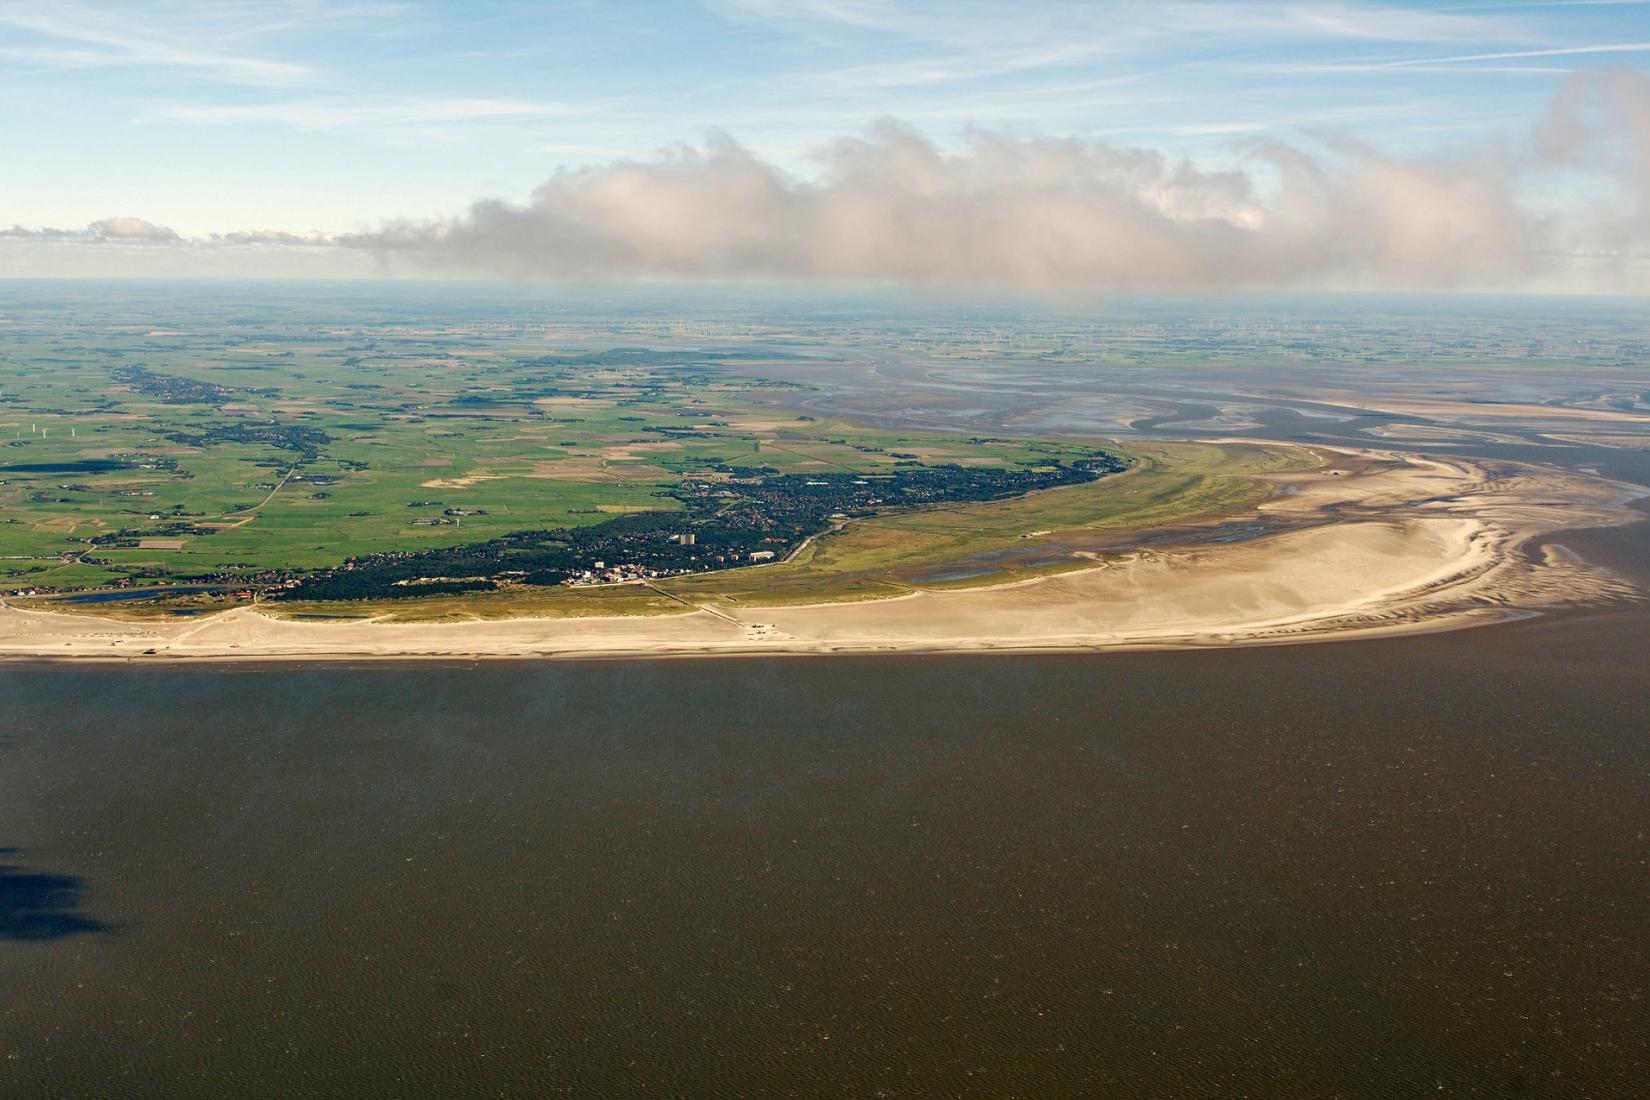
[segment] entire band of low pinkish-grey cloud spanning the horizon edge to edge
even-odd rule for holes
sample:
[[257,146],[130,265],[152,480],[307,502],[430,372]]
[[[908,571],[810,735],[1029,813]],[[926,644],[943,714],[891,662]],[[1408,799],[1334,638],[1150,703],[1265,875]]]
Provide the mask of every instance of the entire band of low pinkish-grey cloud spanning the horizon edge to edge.
[[[883,122],[817,153],[802,178],[728,135],[551,175],[525,203],[386,221],[351,234],[234,231],[183,239],[111,218],[41,242],[373,254],[388,270],[508,279],[822,280],[939,289],[1643,290],[1650,78],[1584,73],[1528,140],[1391,155],[1346,137],[1249,140],[1239,167],[1152,148],[969,130],[940,147]],[[1584,203],[1526,183],[1589,180]],[[1602,274],[1600,274],[1602,272]]]

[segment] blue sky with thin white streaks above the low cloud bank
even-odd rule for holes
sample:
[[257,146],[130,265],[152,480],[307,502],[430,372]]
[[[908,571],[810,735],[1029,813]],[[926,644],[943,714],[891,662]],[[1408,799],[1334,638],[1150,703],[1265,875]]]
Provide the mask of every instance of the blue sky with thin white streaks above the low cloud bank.
[[1650,5],[1610,0],[0,0],[0,224],[366,231],[711,130],[807,178],[886,119],[1206,172],[1256,139],[1470,158],[1526,140],[1569,74],[1647,63]]

